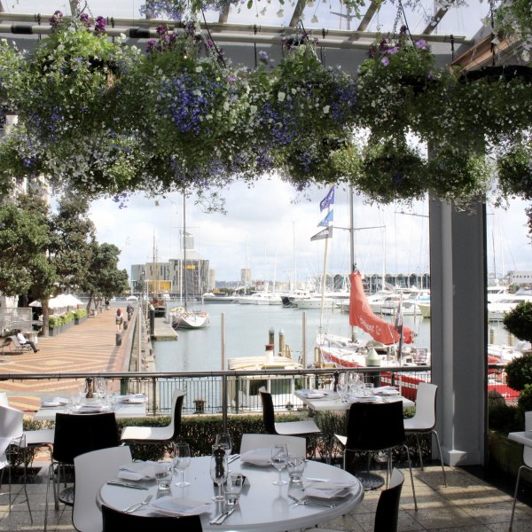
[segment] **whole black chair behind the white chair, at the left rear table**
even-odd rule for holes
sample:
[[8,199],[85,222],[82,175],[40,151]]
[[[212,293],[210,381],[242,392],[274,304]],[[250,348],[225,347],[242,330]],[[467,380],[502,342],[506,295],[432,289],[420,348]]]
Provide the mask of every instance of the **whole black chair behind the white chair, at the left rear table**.
[[[63,480],[66,484],[66,466],[74,467],[74,458],[91,450],[106,449],[120,445],[118,426],[114,412],[101,414],[56,414],[55,434],[44,505],[44,530],[48,523],[48,493],[53,482],[54,506],[59,510],[59,501],[74,505],[74,487],[59,493]],[[75,479],[74,479],[75,481]]]

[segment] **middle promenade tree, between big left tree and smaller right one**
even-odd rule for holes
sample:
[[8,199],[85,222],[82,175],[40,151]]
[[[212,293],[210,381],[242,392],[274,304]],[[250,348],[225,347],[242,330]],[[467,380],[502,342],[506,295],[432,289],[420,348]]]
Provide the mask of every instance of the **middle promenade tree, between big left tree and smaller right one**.
[[89,218],[89,202],[68,193],[59,200],[58,212],[51,216],[51,261],[61,285],[75,289],[87,275],[95,239],[94,223]]

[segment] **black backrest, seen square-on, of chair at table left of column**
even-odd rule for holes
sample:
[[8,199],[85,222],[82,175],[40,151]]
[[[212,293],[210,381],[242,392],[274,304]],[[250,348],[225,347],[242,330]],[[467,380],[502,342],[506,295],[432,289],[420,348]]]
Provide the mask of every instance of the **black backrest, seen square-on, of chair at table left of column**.
[[351,404],[347,449],[384,450],[404,441],[402,401]]

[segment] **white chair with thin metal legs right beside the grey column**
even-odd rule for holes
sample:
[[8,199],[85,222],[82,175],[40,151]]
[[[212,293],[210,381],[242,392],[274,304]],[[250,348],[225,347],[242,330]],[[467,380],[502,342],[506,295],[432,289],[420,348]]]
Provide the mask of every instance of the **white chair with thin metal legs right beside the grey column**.
[[416,397],[416,413],[413,418],[404,419],[405,434],[414,434],[418,443],[419,464],[423,470],[423,457],[421,456],[421,445],[419,434],[434,434],[440,462],[442,463],[443,483],[447,487],[447,478],[445,477],[445,467],[443,465],[442,447],[440,437],[434,429],[436,426],[436,394],[438,387],[429,382],[420,382],[418,385],[418,395]]

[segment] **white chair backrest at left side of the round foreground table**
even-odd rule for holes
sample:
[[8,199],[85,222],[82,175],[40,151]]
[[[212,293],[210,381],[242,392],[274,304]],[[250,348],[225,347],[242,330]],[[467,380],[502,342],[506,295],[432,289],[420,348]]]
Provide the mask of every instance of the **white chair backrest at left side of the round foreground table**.
[[91,450],[74,458],[72,523],[76,530],[102,531],[102,512],[96,504],[98,491],[121,465],[131,461],[131,450],[127,445]]

